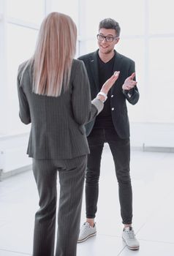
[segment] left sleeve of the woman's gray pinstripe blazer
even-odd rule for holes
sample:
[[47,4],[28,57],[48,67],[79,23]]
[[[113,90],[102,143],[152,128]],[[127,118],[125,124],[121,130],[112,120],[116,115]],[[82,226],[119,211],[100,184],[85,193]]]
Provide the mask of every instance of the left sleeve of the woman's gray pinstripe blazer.
[[30,124],[31,117],[30,117],[30,110],[29,110],[29,102],[26,98],[26,94],[23,91],[23,86],[20,82],[20,72],[18,72],[18,99],[19,99],[19,116],[20,120],[23,124]]

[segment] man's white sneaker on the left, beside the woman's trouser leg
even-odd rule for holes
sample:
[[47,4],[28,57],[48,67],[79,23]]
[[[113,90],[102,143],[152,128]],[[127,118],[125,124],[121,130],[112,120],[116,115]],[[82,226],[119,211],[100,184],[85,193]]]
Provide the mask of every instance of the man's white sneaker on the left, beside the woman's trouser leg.
[[96,233],[97,233],[96,225],[94,224],[94,227],[91,227],[88,222],[85,222],[80,228],[80,234],[79,234],[77,243],[86,241],[91,236],[96,236]]

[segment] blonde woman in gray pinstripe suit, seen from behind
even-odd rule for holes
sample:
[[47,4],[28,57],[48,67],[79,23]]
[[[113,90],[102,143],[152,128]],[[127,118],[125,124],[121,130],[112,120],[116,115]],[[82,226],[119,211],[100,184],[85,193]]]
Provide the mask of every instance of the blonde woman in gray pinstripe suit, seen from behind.
[[84,124],[103,108],[116,72],[91,102],[82,61],[73,59],[77,30],[58,12],[42,22],[34,56],[18,70],[20,119],[31,123],[27,153],[33,159],[39,192],[33,256],[53,256],[56,227],[56,178],[60,183],[56,256],[75,256],[80,225],[86,155]]

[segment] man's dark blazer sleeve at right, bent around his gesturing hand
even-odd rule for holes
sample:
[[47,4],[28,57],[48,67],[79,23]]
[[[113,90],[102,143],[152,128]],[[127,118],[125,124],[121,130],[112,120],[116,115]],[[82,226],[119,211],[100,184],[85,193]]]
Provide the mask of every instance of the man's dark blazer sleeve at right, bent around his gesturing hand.
[[[130,64],[129,75],[132,75],[133,72],[135,72],[135,62],[134,61],[132,61]],[[130,104],[135,105],[138,102],[140,94],[137,89],[137,86],[135,86],[133,89],[131,89],[129,91],[124,90],[123,93]]]

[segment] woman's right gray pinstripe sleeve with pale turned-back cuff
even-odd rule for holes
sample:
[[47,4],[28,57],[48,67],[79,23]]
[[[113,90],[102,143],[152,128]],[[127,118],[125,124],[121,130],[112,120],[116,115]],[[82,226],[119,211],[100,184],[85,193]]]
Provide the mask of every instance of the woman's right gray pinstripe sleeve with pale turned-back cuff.
[[77,124],[86,124],[94,119],[104,104],[99,99],[91,102],[90,86],[83,61],[77,62],[72,80],[72,111]]

